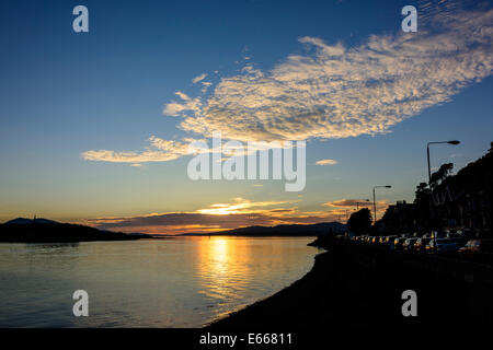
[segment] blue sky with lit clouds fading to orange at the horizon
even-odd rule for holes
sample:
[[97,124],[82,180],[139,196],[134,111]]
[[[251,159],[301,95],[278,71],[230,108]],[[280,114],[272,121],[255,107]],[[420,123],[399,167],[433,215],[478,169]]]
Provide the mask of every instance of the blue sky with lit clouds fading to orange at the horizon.
[[[72,9],[89,10],[76,33]],[[404,33],[401,10],[417,10]],[[0,222],[175,234],[412,201],[493,141],[489,1],[0,3]],[[306,141],[306,186],[192,180],[192,141]],[[286,148],[284,149],[284,151]],[[211,151],[214,152],[214,151]]]

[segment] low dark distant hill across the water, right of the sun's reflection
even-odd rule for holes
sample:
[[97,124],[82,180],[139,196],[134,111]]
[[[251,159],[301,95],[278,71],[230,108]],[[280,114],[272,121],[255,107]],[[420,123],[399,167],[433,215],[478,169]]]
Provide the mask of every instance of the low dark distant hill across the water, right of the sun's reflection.
[[[321,222],[316,224],[291,224],[277,226],[248,226],[228,231],[220,231],[210,233],[210,235],[237,235],[237,236],[319,236],[325,235],[330,232],[341,233],[346,230],[346,226],[340,222]],[[209,235],[203,233],[188,233],[191,235]]]

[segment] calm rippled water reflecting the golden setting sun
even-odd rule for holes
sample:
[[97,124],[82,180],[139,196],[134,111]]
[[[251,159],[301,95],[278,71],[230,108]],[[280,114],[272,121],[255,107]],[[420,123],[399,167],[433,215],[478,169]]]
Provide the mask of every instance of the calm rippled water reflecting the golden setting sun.
[[[301,278],[311,241],[0,244],[0,327],[200,327]],[[73,316],[76,290],[88,317]]]

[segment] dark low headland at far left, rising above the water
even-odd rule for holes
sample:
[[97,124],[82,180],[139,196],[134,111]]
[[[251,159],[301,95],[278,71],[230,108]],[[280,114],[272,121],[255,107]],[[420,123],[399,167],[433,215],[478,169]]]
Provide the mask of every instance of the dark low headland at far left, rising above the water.
[[90,226],[60,223],[47,219],[18,218],[0,224],[3,243],[71,243],[89,241],[135,241],[152,236],[102,231]]

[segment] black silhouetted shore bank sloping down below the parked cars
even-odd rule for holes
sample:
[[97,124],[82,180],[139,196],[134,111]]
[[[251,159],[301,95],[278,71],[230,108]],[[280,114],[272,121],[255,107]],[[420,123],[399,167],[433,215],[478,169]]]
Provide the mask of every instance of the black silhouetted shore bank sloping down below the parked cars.
[[[409,330],[493,325],[489,266],[351,242],[318,245],[329,252],[316,257],[302,279],[207,328]],[[416,317],[402,315],[406,290],[416,292]]]

